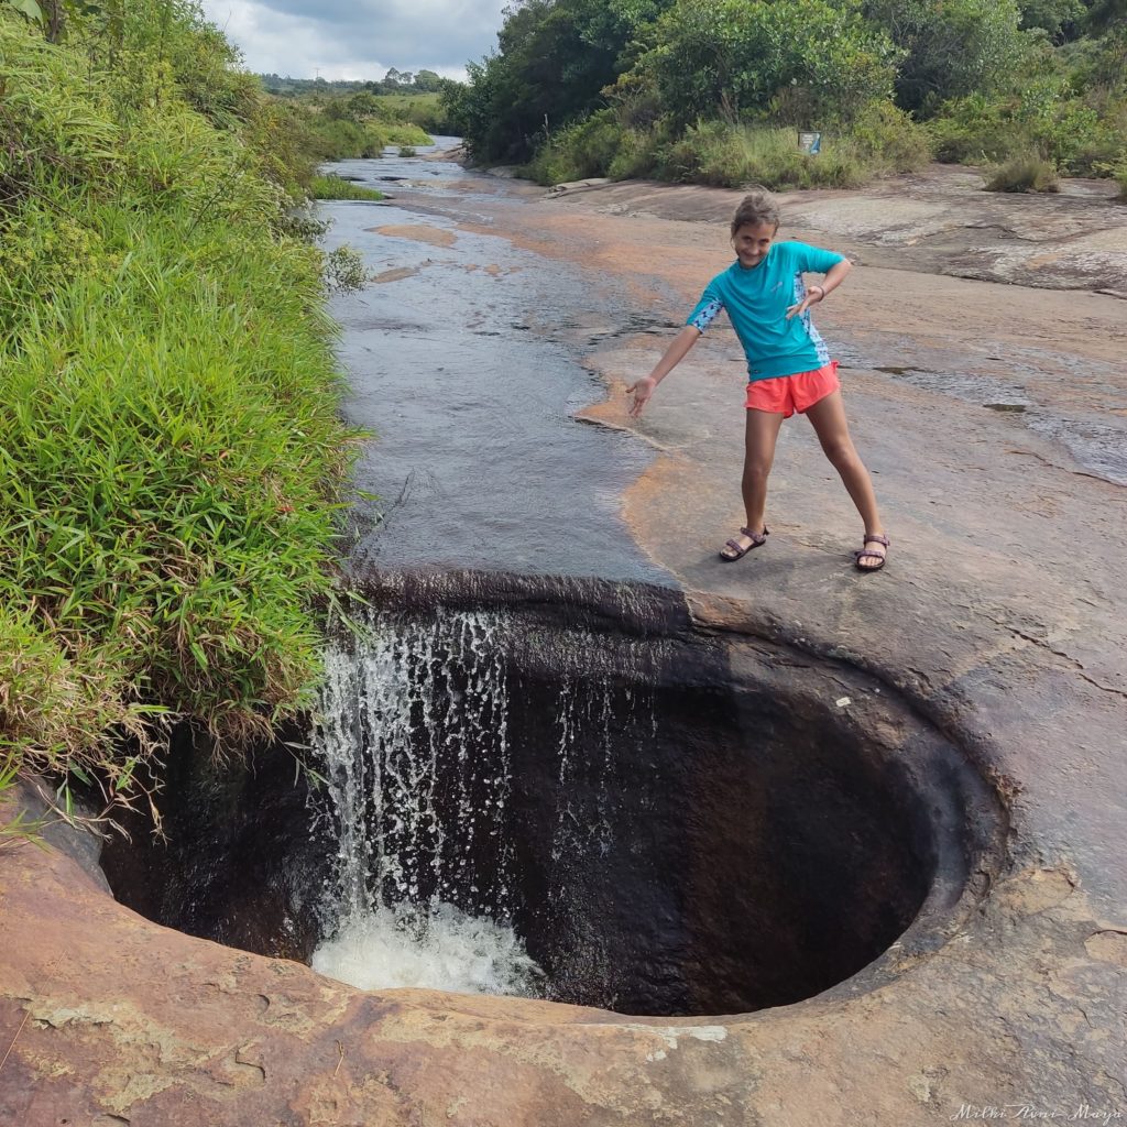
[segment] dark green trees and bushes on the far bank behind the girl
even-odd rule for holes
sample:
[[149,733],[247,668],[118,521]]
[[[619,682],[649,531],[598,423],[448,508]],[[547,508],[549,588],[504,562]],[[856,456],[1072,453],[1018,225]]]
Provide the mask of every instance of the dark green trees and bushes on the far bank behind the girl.
[[1120,175],[1125,17],[1122,0],[523,0],[441,98],[476,159],[541,183],[851,185],[933,154]]

